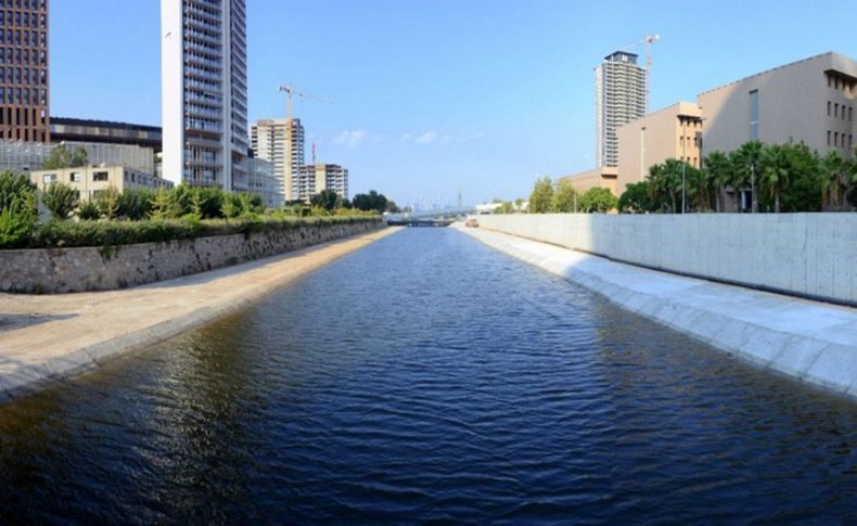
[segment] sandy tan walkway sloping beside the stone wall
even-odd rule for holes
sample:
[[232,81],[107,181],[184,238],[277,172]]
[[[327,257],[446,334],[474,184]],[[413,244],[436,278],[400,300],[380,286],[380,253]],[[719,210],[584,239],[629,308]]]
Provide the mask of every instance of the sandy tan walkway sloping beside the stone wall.
[[0,294],[0,401],[245,308],[397,230],[124,291]]

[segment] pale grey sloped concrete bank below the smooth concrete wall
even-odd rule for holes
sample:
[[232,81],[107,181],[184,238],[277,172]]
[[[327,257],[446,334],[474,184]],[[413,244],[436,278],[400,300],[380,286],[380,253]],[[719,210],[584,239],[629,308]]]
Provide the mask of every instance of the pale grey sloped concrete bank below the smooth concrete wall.
[[485,229],[488,246],[759,367],[857,399],[857,310],[617,264]]

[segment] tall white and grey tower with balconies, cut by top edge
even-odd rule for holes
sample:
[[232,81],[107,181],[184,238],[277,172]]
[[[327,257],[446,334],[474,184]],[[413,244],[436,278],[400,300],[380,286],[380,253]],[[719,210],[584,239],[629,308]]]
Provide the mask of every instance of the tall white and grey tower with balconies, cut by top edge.
[[161,0],[163,174],[247,190],[245,0]]

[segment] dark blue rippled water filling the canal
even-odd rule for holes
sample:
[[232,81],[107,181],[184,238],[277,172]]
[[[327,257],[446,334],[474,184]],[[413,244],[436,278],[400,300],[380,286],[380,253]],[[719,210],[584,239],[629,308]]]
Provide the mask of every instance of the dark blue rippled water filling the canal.
[[0,408],[0,519],[855,522],[857,406],[448,229]]

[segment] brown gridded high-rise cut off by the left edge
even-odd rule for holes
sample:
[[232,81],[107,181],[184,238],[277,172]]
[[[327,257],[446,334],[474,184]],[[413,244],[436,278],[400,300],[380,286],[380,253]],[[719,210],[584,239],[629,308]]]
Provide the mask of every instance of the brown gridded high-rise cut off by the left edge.
[[0,1],[0,140],[50,140],[48,77],[48,0]]

